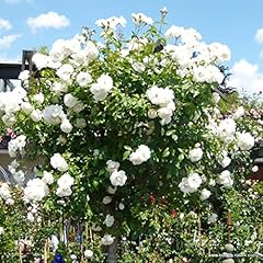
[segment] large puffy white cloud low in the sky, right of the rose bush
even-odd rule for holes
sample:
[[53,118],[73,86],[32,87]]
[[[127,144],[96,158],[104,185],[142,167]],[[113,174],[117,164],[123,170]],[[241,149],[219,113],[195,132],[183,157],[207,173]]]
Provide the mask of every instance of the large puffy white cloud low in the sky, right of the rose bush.
[[229,87],[237,88],[239,92],[254,94],[263,91],[263,73],[259,71],[259,66],[241,59],[231,69]]

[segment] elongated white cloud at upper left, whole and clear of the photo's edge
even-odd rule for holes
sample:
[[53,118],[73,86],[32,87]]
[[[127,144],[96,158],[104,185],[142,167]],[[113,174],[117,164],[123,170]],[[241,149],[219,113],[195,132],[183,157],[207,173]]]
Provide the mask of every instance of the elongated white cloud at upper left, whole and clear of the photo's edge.
[[56,12],[43,13],[36,18],[28,18],[26,20],[27,25],[31,27],[32,32],[36,32],[37,28],[48,28],[53,27],[59,30],[61,27],[69,26],[70,21],[62,14]]

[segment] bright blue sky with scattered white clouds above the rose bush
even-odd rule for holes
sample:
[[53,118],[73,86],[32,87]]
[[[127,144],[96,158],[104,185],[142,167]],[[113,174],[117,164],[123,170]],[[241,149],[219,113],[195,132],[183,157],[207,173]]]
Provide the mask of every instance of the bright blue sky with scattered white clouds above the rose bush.
[[0,0],[0,62],[21,59],[23,49],[49,47],[70,38],[82,26],[96,28],[98,19],[144,12],[159,19],[169,10],[168,24],[195,27],[206,43],[221,42],[231,50],[231,84],[263,91],[262,0]]

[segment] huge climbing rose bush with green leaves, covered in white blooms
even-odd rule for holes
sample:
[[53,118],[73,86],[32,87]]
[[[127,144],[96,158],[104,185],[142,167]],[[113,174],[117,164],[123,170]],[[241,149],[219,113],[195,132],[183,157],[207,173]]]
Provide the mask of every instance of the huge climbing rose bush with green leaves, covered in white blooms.
[[[1,206],[23,210],[28,231],[18,236],[38,242],[31,251],[43,254],[47,239],[67,262],[103,262],[107,247],[108,262],[216,262],[208,254],[229,241],[255,250],[247,226],[262,219],[251,209],[261,195],[244,179],[262,127],[220,100],[228,47],[165,15],[133,13],[127,38],[124,18],[98,20],[100,41],[90,28],[56,41],[21,72],[23,88],[0,94],[18,183],[1,185]],[[36,161],[34,179],[24,159]]]

